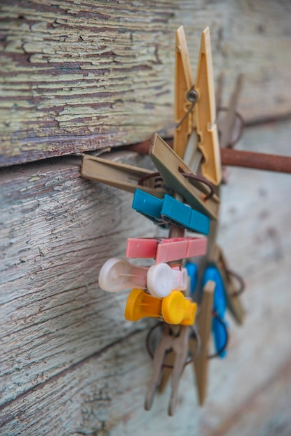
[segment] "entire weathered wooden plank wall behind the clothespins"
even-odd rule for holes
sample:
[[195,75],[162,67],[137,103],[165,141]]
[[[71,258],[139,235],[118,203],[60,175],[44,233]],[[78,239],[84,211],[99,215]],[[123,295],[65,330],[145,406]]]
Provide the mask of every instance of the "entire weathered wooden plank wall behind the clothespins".
[[168,391],[143,411],[150,322],[125,321],[127,293],[97,286],[104,260],[155,227],[131,210],[130,194],[80,178],[77,154],[171,134],[182,23],[193,68],[210,25],[226,101],[245,73],[240,108],[249,125],[277,119],[246,128],[240,147],[291,155],[290,120],[280,120],[291,111],[290,4],[50,5],[1,2],[0,434],[289,435],[290,176],[230,169],[219,242],[246,279],[247,318],[243,327],[229,319],[228,358],[210,364],[205,407],[187,367],[169,418]]

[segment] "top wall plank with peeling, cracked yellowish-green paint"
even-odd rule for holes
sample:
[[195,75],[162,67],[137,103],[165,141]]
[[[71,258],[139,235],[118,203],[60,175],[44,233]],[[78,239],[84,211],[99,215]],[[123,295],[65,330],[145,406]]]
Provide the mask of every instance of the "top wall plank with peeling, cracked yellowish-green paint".
[[245,75],[246,120],[291,112],[290,3],[206,0],[3,0],[0,165],[173,133],[175,30],[193,74],[210,26],[226,104]]

